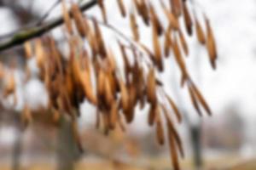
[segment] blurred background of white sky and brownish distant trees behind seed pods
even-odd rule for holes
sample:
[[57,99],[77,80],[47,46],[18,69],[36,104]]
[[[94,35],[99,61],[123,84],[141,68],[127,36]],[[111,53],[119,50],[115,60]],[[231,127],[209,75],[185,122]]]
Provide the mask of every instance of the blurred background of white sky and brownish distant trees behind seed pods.
[[[131,2],[126,0],[125,3],[129,6]],[[166,72],[161,78],[184,117],[183,123],[178,125],[186,153],[182,167],[256,169],[256,2],[191,0],[189,4],[194,6],[201,20],[203,14],[211,20],[218,46],[218,69],[212,71],[207,51],[195,42],[195,37],[190,38],[189,71],[213,112],[212,117],[199,117],[189,102],[187,91],[179,88],[177,66],[172,59],[165,62]],[[110,23],[131,36],[127,19],[122,20],[115,14],[115,1],[108,1],[107,8]],[[98,8],[86,14],[101,18]],[[60,15],[61,5],[57,0],[0,0],[0,42],[13,31]],[[148,30],[143,26],[140,29],[142,42],[150,45]],[[52,34],[61,41],[60,32],[61,29],[55,29]],[[113,32],[104,36],[109,38],[109,43],[116,37]],[[37,77],[21,85],[25,77],[25,54],[21,47],[4,51],[0,56],[5,65],[14,62],[18,65],[15,81],[20,84],[15,110],[8,109],[12,99],[0,105],[0,169],[56,169],[63,152],[73,150],[70,136],[49,122],[32,123],[26,130],[22,128],[19,116],[24,101],[29,101],[33,107],[45,105],[44,85]],[[33,63],[31,65],[33,68]],[[167,146],[160,147],[156,143],[154,129],[144,121],[147,111],[137,114],[136,121],[127,127],[127,133],[117,129],[106,137],[95,128],[95,108],[84,103],[80,110],[79,132],[84,154],[75,156],[76,169],[172,169]]]

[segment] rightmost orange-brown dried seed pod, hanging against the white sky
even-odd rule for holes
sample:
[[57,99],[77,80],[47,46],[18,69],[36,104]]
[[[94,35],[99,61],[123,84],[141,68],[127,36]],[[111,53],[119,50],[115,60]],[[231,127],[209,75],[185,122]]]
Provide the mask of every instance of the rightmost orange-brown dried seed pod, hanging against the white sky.
[[210,26],[210,21],[205,17],[206,25],[207,25],[207,51],[210,57],[211,65],[213,69],[216,69],[216,59],[217,50],[215,45],[215,39],[212,32],[212,27]]

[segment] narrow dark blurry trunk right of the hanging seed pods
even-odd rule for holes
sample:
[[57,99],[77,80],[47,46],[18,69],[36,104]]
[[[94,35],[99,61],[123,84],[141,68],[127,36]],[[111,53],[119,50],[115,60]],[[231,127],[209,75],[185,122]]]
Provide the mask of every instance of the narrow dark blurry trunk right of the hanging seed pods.
[[199,125],[190,125],[190,138],[192,143],[193,150],[193,161],[195,165],[195,170],[200,170],[203,164],[202,160],[202,151],[201,151],[201,124]]

